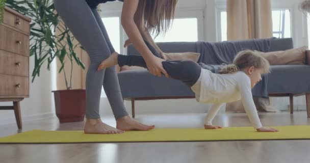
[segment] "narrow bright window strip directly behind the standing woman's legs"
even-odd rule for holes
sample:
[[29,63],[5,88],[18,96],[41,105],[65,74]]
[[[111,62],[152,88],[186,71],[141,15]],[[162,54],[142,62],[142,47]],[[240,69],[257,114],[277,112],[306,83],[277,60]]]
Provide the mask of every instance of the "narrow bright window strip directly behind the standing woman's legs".
[[[107,33],[115,51],[120,52],[120,18],[119,17],[106,17],[102,18],[105,24]],[[101,90],[101,97],[107,97],[104,88]]]

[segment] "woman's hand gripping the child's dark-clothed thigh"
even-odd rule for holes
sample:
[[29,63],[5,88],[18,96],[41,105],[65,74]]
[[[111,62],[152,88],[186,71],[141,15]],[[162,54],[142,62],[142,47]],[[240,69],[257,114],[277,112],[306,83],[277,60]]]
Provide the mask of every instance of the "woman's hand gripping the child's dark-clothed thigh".
[[169,77],[168,73],[163,68],[163,61],[163,59],[155,56],[145,59],[147,69],[151,74],[161,77],[163,73],[166,77]]

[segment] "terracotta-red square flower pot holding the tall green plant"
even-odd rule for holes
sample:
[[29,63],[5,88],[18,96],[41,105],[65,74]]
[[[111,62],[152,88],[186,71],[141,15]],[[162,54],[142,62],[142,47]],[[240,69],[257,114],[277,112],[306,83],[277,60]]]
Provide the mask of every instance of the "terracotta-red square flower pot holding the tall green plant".
[[56,115],[60,123],[84,120],[86,109],[85,90],[57,90],[52,92],[54,92]]

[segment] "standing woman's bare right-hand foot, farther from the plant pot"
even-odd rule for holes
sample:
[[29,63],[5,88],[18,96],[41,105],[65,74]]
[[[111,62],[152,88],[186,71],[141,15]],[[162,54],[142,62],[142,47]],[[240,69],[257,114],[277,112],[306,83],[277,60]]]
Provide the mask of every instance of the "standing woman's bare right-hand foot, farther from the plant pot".
[[144,125],[138,122],[137,120],[130,118],[129,116],[125,116],[116,120],[116,128],[123,131],[129,131],[129,130],[147,131],[155,128],[155,126]]

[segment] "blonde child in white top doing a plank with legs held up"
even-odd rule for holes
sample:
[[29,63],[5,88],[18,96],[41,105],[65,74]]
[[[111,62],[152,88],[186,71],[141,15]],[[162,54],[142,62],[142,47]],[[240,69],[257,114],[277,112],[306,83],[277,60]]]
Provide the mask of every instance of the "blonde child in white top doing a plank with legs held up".
[[[101,62],[98,70],[117,64],[147,68],[141,56],[124,56],[115,52]],[[198,102],[213,103],[204,121],[205,129],[222,128],[212,125],[220,106],[241,99],[250,122],[257,131],[278,131],[262,126],[253,102],[251,89],[262,80],[263,73],[269,73],[269,62],[256,52],[239,52],[233,64],[221,69],[218,74],[212,73],[208,67],[202,69],[192,61],[163,61],[162,65],[171,78],[182,81],[193,90]]]

